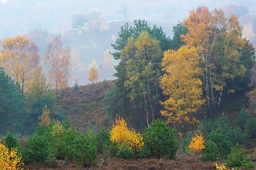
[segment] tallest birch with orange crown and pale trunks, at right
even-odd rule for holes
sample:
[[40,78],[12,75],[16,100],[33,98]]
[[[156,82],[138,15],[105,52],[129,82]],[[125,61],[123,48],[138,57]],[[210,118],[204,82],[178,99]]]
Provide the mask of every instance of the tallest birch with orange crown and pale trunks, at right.
[[211,108],[220,108],[223,93],[234,92],[228,83],[244,76],[246,71],[243,64],[239,64],[244,46],[242,29],[235,15],[227,20],[223,10],[210,12],[205,6],[192,10],[184,25],[188,30],[186,35],[181,35],[184,43],[198,48],[203,90],[211,117]]

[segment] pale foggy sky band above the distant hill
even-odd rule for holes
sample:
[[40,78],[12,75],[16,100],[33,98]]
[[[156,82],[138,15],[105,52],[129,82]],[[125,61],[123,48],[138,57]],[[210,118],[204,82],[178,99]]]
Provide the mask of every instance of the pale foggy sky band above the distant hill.
[[106,22],[125,20],[125,9],[127,20],[141,18],[174,25],[188,17],[189,11],[198,6],[213,10],[229,4],[243,5],[251,15],[256,11],[256,1],[250,0],[1,0],[0,38],[26,34],[35,28],[54,31],[58,27],[61,31],[68,31],[71,29],[72,15],[89,13],[91,10],[101,11]]

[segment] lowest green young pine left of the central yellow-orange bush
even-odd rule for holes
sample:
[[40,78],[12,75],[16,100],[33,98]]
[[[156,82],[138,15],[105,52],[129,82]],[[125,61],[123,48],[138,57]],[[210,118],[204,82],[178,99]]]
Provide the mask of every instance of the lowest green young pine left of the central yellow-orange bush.
[[97,148],[83,134],[74,140],[72,153],[74,160],[84,167],[90,167],[97,162]]

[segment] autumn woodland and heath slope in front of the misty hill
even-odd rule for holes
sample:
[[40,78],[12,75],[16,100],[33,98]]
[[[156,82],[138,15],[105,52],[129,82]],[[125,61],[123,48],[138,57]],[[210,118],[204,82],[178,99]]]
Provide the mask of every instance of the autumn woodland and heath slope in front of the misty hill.
[[254,168],[255,48],[242,32],[236,15],[205,6],[172,38],[134,20],[108,52],[116,80],[98,82],[92,63],[84,77],[92,84],[76,78],[74,87],[61,36],[52,37],[44,66],[28,36],[4,38],[0,169]]

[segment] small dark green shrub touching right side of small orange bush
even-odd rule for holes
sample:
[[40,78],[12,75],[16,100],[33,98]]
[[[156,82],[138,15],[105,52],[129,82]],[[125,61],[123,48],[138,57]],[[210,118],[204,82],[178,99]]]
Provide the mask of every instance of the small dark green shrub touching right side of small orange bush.
[[203,161],[211,160],[216,161],[218,158],[218,147],[216,143],[213,141],[207,141],[205,143],[205,148],[202,150],[202,157]]

